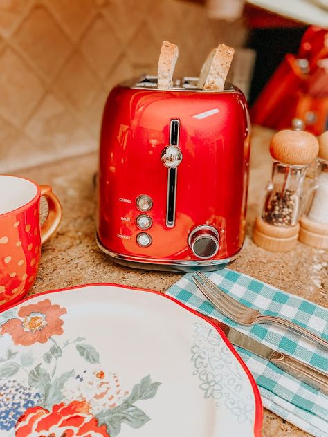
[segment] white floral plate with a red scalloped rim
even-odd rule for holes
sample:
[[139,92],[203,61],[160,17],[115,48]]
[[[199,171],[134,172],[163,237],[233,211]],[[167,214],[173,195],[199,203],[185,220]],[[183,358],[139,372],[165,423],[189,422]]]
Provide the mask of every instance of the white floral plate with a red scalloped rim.
[[245,364],[158,292],[90,285],[0,313],[0,436],[260,436]]

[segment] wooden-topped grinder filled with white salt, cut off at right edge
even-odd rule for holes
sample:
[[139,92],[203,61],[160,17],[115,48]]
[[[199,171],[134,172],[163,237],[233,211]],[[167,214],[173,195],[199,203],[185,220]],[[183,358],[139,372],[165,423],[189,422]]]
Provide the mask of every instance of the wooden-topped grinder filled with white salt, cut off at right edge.
[[328,249],[328,131],[318,141],[317,187],[307,214],[300,219],[298,239],[313,248]]

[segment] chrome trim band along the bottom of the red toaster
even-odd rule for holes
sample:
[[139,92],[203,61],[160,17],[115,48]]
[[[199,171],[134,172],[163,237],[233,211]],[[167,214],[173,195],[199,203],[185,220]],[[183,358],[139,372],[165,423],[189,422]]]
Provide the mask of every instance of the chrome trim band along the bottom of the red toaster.
[[108,257],[110,257],[115,263],[122,266],[140,268],[143,270],[166,270],[166,271],[179,271],[179,272],[194,272],[196,270],[211,271],[224,268],[228,264],[235,261],[238,257],[240,250],[233,254],[231,257],[223,259],[201,260],[201,261],[179,261],[177,259],[157,259],[157,258],[145,258],[145,257],[132,257],[125,254],[119,254],[111,252],[111,250],[104,248],[100,242],[98,234],[95,236],[95,241],[98,248]]

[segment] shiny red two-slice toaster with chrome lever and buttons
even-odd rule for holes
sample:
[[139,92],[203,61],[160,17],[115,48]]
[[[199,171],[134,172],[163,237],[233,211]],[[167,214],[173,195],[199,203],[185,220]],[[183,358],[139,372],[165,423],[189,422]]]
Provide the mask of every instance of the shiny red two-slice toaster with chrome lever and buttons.
[[157,89],[154,76],[116,86],[100,136],[100,249],[151,270],[216,270],[245,234],[250,126],[246,99],[197,78]]

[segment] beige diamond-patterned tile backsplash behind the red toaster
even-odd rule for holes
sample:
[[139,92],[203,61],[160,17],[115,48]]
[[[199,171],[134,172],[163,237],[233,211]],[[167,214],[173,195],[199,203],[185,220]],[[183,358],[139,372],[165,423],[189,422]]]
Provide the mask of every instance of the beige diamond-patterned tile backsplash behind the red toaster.
[[176,75],[198,75],[208,51],[246,30],[182,0],[0,0],[0,172],[98,147],[116,83],[156,73],[164,39]]

